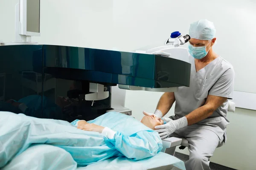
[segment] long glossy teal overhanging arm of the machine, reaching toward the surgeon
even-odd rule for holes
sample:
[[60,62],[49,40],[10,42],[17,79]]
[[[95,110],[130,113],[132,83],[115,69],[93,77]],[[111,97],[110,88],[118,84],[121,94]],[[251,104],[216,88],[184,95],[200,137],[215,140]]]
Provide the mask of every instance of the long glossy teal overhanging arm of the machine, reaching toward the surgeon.
[[190,81],[190,64],[177,59],[59,45],[44,45],[44,68],[59,68],[60,73],[69,68],[79,79],[148,88],[189,86]]

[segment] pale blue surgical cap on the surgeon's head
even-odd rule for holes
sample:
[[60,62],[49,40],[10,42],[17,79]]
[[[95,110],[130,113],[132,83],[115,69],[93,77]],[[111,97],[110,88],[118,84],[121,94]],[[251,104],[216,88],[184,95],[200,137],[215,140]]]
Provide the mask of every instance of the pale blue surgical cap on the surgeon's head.
[[208,20],[198,20],[190,24],[189,36],[198,40],[212,40],[215,37],[216,29]]

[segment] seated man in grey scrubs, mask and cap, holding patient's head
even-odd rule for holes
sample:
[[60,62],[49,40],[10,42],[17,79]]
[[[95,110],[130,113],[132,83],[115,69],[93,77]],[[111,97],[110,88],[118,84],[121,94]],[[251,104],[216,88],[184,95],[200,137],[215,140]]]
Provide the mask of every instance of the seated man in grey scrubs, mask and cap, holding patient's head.
[[227,140],[227,99],[233,96],[234,70],[229,62],[212,50],[215,32],[213,23],[208,20],[190,25],[190,86],[179,87],[174,93],[164,93],[154,112],[161,118],[176,101],[175,116],[164,118],[167,123],[155,128],[162,139],[176,136],[189,141],[187,170],[210,170],[209,158],[215,148]]

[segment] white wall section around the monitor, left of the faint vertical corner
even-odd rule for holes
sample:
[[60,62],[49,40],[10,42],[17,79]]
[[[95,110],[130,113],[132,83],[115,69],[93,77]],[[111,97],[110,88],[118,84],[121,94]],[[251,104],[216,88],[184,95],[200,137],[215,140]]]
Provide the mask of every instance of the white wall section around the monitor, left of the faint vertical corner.
[[[0,0],[0,40],[15,40],[15,4]],[[41,0],[41,37],[44,44],[112,48],[113,0]]]

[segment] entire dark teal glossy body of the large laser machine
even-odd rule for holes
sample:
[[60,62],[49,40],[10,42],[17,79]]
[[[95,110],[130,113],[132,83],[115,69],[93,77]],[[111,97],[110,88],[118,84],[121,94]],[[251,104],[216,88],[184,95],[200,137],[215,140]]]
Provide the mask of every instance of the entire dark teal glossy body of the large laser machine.
[[[0,46],[0,111],[62,119],[94,119],[111,110],[111,86],[189,86],[190,64],[151,54],[58,45]],[[85,101],[90,82],[109,97]]]

